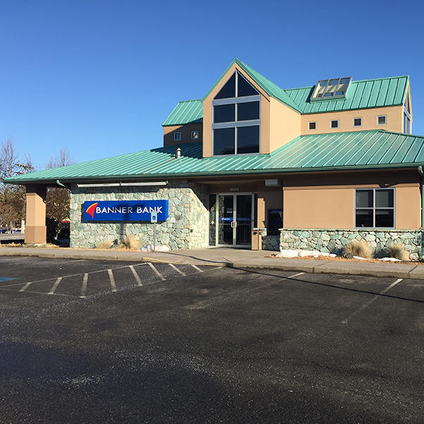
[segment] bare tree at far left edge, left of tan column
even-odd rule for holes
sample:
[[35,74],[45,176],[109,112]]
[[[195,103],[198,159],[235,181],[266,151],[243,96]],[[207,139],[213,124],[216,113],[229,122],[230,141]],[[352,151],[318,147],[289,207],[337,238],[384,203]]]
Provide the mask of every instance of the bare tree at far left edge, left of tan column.
[[[0,146],[0,178],[13,177],[34,170],[31,158],[25,156],[19,163],[19,154],[11,138],[3,141]],[[14,184],[0,183],[0,225],[6,225],[9,230],[20,225],[25,217],[25,188]]]

